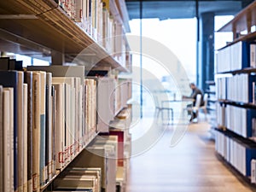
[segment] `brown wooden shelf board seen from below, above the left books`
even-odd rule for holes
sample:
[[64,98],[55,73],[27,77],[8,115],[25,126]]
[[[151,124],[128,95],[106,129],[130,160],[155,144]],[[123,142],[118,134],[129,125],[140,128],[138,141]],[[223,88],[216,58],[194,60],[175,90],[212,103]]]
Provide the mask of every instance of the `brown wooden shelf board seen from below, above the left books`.
[[[128,72],[53,0],[2,1],[0,14],[9,15],[10,19],[0,17],[0,28],[17,37],[13,44],[20,44],[19,38],[26,38],[42,47],[67,55],[71,60],[79,55],[84,61],[91,62],[93,56],[93,61],[99,65],[108,64],[121,72]],[[31,19],[14,19],[13,15],[30,15]]]

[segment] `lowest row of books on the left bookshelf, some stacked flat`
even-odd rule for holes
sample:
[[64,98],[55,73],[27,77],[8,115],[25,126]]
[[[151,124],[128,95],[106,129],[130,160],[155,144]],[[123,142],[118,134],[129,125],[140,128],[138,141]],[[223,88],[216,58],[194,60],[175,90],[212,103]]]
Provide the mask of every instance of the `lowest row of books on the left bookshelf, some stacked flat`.
[[96,136],[45,191],[125,191],[131,156],[130,114],[131,108],[122,110],[109,125],[110,131]]

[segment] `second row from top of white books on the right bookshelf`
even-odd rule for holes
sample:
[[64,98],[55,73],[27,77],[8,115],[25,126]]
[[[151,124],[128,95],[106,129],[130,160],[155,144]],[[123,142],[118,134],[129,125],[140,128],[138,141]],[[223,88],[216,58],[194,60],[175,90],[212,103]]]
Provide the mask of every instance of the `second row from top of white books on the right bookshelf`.
[[255,81],[256,76],[247,73],[218,78],[216,83],[217,98],[255,103]]

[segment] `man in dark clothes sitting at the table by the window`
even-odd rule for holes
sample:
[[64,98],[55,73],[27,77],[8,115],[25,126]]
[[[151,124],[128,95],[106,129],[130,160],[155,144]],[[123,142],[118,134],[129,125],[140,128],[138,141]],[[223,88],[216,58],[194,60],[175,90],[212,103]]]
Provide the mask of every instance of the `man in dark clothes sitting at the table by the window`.
[[[190,83],[190,84],[189,84],[189,87],[190,87],[190,89],[192,90],[191,95],[190,95],[190,96],[183,96],[183,98],[193,99],[193,104],[189,104],[189,105],[187,106],[187,108],[195,107],[196,96],[197,96],[198,94],[201,95],[200,106],[203,106],[203,105],[204,105],[204,101],[203,101],[203,93],[202,93],[202,91],[201,91],[199,88],[197,88],[194,83]],[[193,119],[196,119],[196,118],[197,118],[197,113],[192,112],[191,119],[190,119],[189,121],[191,122]]]

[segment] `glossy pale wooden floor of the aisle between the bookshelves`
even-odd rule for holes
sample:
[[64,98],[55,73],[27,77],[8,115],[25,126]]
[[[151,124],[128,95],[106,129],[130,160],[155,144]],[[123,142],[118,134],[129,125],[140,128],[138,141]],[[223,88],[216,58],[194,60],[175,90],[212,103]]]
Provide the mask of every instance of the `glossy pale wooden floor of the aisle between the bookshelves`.
[[[137,126],[143,125],[147,124]],[[153,148],[131,157],[126,192],[256,191],[218,160],[209,129],[207,122],[191,124],[171,148],[173,128],[169,126]]]

